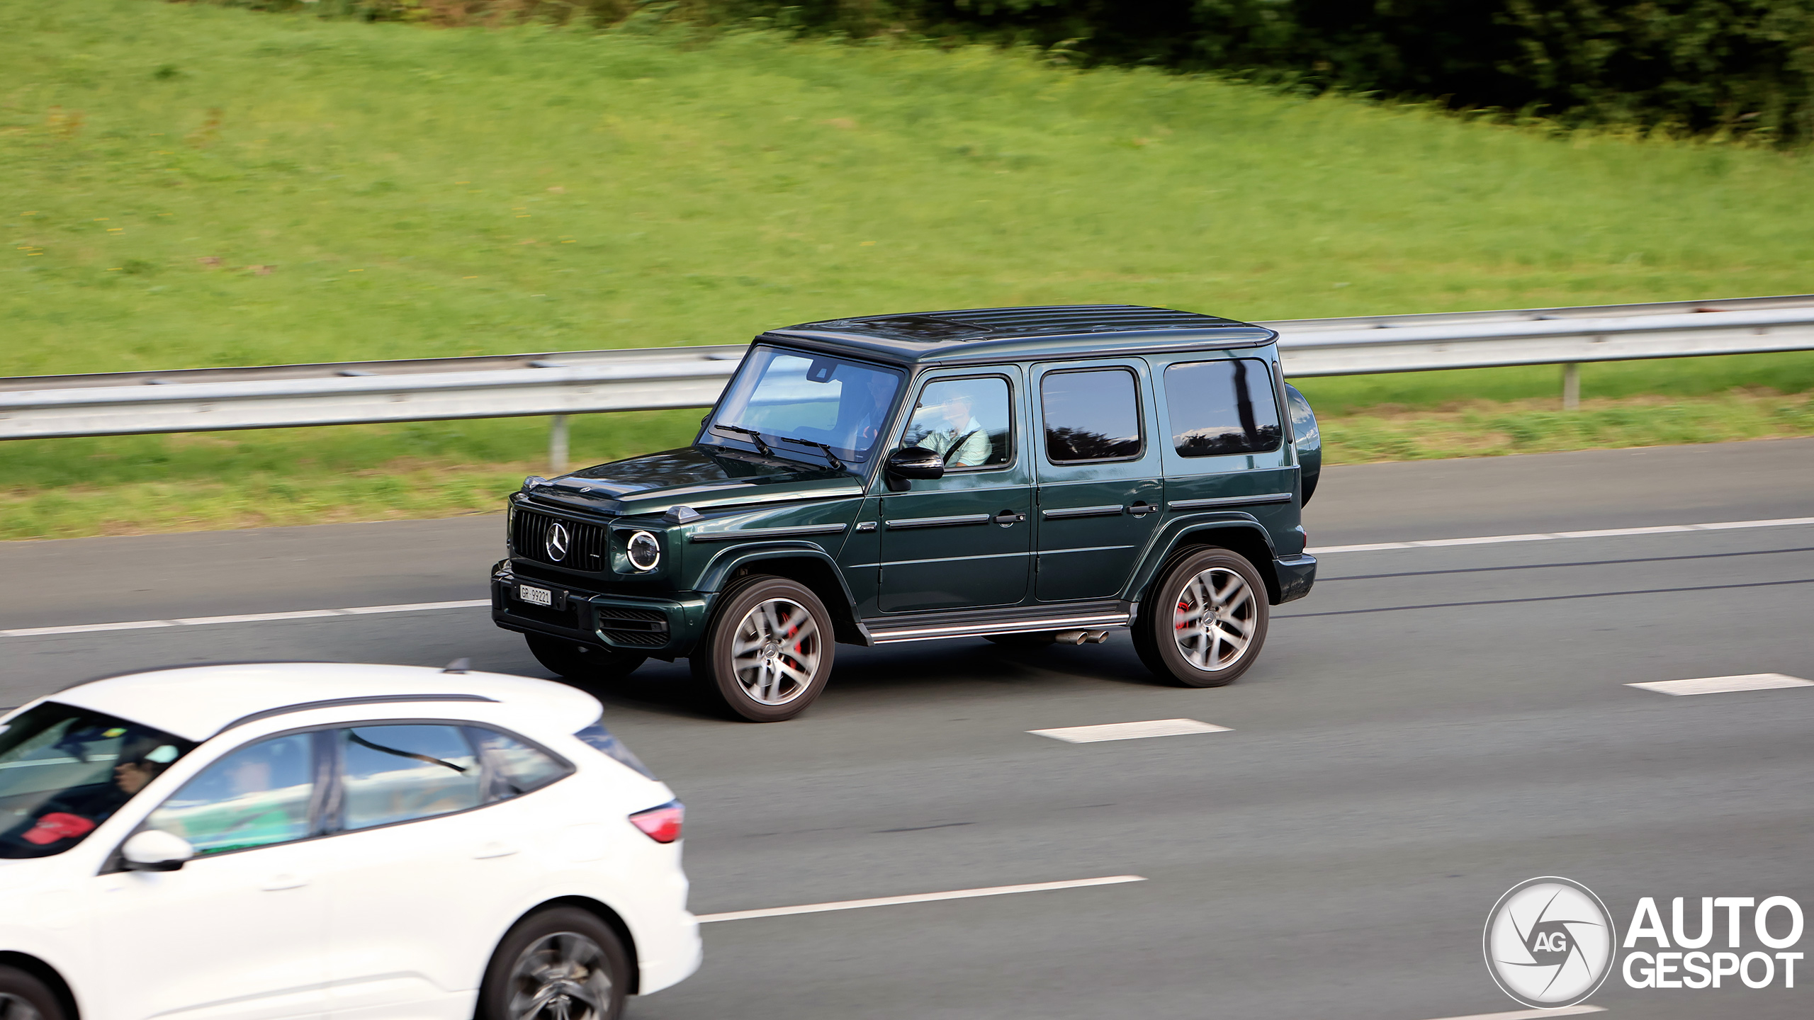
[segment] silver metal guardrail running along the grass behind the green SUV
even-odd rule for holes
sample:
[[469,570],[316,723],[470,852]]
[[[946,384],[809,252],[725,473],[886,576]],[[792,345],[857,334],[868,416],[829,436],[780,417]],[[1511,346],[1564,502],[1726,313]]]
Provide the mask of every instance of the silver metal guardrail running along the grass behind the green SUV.
[[[1286,376],[1565,365],[1571,407],[1584,361],[1814,350],[1814,294],[1261,325],[1279,330]],[[742,354],[724,345],[25,376],[0,379],[0,439],[553,416],[550,452],[562,465],[566,416],[707,407]]]

